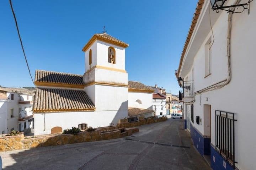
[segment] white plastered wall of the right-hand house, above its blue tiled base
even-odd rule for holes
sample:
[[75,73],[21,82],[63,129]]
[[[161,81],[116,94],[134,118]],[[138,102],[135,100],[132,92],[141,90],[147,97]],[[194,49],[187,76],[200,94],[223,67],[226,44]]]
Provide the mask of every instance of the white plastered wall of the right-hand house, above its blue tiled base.
[[[229,0],[227,4],[232,4],[234,0]],[[242,1],[243,2],[243,1]],[[241,2],[241,3],[242,3]],[[212,12],[212,26],[214,33],[214,43],[212,45],[211,75],[205,77],[205,45],[209,38],[213,36],[209,27],[209,2],[205,2],[202,14],[199,17],[195,28],[192,42],[188,45],[188,51],[182,65],[179,77],[194,77],[195,91],[206,88],[212,84],[225,80],[228,71],[227,50],[227,29],[228,13]],[[235,157],[239,169],[254,169],[256,163],[254,154],[256,148],[255,135],[251,135],[255,126],[256,115],[254,107],[254,86],[256,77],[255,72],[255,37],[256,37],[256,3],[250,4],[250,15],[247,11],[233,15],[231,31],[231,71],[232,77],[228,85],[223,88],[196,95],[194,102],[194,120],[200,116],[200,125],[193,124],[203,135],[209,135],[205,125],[204,106],[210,105],[211,108],[211,143],[215,146],[215,110],[223,110],[235,113]],[[192,65],[190,63],[192,62]],[[193,70],[193,72],[192,72]],[[205,78],[204,78],[205,77]],[[242,99],[241,99],[242,98]],[[183,100],[186,100],[184,98]],[[239,103],[239,104],[238,104]],[[187,113],[186,113],[187,114]],[[189,120],[187,120],[189,121]]]

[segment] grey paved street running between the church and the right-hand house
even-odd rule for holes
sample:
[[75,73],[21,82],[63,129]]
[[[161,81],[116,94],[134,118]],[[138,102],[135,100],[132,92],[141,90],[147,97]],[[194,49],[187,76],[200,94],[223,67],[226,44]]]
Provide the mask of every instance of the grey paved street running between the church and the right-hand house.
[[133,136],[97,142],[0,153],[4,169],[208,170],[183,120],[143,125]]

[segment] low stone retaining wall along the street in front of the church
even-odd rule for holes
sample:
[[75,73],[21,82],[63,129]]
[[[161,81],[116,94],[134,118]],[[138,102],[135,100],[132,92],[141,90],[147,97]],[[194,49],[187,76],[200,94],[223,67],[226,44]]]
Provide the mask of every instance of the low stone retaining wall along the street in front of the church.
[[[49,134],[24,137],[23,134],[17,136],[0,136],[0,152],[20,149],[30,149],[36,147],[55,146],[62,144],[80,143],[99,141],[106,139],[115,139],[119,137],[130,136],[133,133],[139,132],[135,126],[151,124],[154,122],[166,121],[167,117],[153,119],[150,117],[145,119],[144,116],[139,117],[137,122],[128,122],[128,119],[120,119],[117,126],[108,126],[96,128],[95,131],[83,131],[77,135],[73,134]],[[120,128],[124,128],[121,133]]]

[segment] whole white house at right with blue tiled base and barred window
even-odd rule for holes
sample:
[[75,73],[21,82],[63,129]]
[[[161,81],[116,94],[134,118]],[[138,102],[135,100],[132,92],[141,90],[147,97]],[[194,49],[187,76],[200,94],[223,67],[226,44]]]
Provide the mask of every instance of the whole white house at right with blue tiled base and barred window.
[[210,1],[199,0],[177,72],[184,80],[187,130],[214,170],[256,167],[256,2],[246,7],[250,11],[216,13]]

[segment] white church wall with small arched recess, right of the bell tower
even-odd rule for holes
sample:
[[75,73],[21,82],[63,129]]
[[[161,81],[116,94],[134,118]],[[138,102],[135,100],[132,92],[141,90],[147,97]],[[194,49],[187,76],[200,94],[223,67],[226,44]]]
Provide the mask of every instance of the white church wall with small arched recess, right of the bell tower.
[[128,106],[152,109],[152,93],[128,92]]

